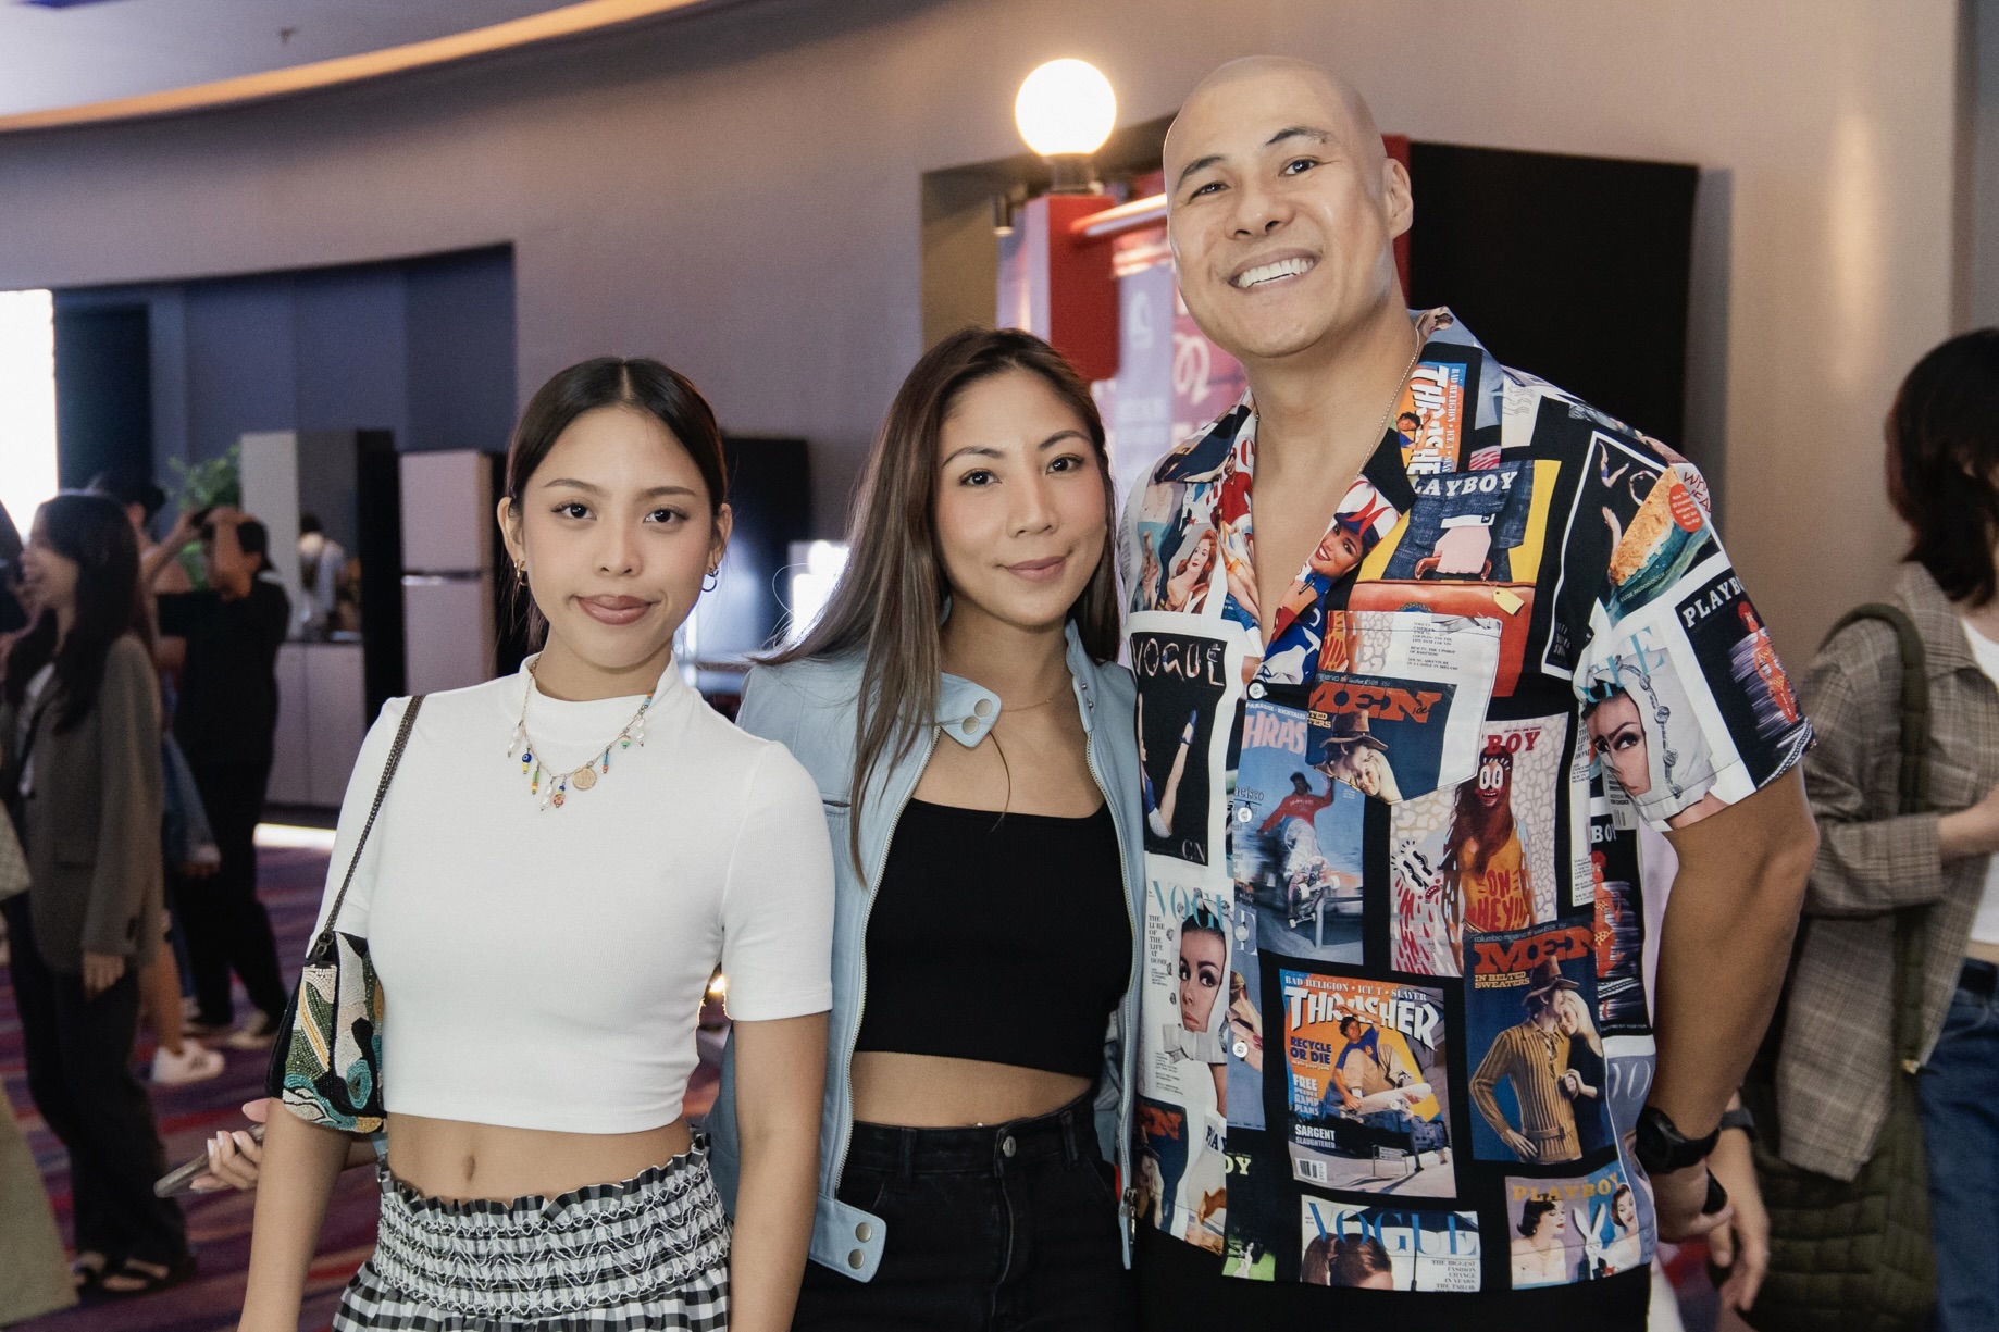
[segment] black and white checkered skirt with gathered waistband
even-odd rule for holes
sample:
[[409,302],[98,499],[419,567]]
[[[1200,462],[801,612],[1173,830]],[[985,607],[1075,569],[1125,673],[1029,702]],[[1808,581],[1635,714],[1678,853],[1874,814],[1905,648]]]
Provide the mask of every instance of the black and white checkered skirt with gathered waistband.
[[560,1198],[442,1202],[388,1166],[376,1174],[376,1252],[340,1298],[334,1332],[728,1328],[730,1222],[702,1142]]

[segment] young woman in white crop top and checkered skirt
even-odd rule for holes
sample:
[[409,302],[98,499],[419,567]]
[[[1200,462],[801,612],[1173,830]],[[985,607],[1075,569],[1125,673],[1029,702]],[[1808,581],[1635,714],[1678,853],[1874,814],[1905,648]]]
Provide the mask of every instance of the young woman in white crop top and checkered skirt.
[[[812,1228],[832,856],[804,768],[672,660],[730,532],[714,414],[652,360],[564,370],[514,434],[500,524],[546,646],[424,700],[340,912],[386,996],[388,1160],[334,1326],[778,1332]],[[362,748],[328,904],[404,708]],[[718,962],[734,1254],[682,1114]],[[270,1114],[242,1328],[298,1326],[350,1146]]]

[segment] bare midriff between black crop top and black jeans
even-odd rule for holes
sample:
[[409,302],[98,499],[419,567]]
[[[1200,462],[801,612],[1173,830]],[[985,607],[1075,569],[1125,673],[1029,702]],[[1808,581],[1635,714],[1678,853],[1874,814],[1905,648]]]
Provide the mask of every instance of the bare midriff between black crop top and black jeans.
[[1053,1114],[1089,1078],[936,1054],[854,1054],[854,1118],[898,1128],[966,1128]]

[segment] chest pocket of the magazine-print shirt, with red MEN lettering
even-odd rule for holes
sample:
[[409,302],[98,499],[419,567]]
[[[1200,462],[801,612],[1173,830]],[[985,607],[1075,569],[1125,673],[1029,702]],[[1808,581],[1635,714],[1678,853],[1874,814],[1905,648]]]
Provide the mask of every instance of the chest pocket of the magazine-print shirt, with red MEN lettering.
[[1483,616],[1329,616],[1311,684],[1313,762],[1389,804],[1469,780],[1499,676],[1499,622]]

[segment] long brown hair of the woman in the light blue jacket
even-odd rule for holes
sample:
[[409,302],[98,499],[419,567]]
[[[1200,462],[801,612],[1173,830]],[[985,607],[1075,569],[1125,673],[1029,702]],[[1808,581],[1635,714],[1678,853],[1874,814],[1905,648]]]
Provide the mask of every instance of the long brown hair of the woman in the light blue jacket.
[[866,652],[854,722],[854,794],[848,844],[860,868],[860,812],[884,760],[910,756],[938,716],[944,674],[940,630],[950,586],[938,554],[938,438],[974,384],[1025,370],[1037,374],[1081,418],[1103,476],[1103,554],[1069,620],[1099,662],[1117,656],[1115,498],[1103,420],[1089,386],[1061,354],[1011,328],[966,328],[930,348],[896,392],[862,476],[854,550],[806,638],[764,658],[772,666]]

